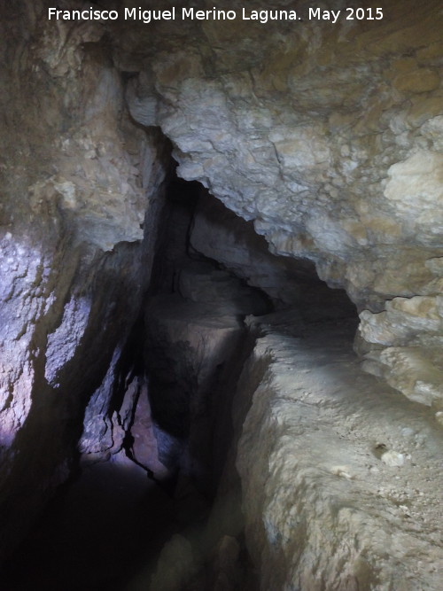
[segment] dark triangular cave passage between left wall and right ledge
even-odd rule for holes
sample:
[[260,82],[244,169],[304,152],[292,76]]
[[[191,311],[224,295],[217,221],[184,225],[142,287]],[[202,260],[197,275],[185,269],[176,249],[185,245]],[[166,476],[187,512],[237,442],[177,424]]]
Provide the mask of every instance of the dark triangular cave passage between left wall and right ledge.
[[[110,442],[91,451],[83,434],[75,477],[6,565],[4,588],[213,589],[210,547],[223,527],[238,550],[232,588],[258,588],[229,457],[231,407],[257,336],[245,319],[273,314],[296,315],[300,334],[303,323],[356,323],[346,294],[311,263],[272,255],[252,223],[175,179],[144,309],[103,405]],[[219,517],[210,517],[214,503],[224,505]],[[187,564],[193,546],[206,553],[198,567]]]

